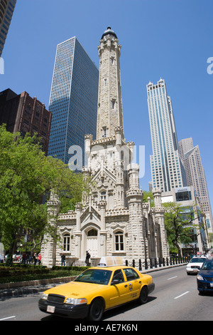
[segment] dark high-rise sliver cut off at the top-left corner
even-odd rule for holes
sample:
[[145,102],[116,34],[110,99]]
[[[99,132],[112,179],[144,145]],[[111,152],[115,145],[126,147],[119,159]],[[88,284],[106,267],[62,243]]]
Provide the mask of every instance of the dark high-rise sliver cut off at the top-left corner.
[[0,0],[0,57],[4,48],[16,0]]

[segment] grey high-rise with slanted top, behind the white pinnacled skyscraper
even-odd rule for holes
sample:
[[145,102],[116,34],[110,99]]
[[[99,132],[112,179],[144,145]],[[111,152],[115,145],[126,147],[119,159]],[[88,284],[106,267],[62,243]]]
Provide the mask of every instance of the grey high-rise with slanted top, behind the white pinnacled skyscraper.
[[201,210],[206,215],[207,227],[212,227],[212,209],[199,146],[194,147],[192,138],[185,138],[178,143],[180,156],[185,167],[187,184],[192,185],[200,199]]

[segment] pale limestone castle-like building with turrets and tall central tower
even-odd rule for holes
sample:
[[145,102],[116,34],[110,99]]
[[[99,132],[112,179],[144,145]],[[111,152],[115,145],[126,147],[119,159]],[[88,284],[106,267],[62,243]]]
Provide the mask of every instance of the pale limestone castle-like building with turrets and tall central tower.
[[[82,170],[91,179],[89,195],[82,195],[75,211],[58,215],[60,202],[51,194],[48,210],[61,242],[44,237],[43,264],[85,264],[86,251],[96,265],[102,256],[123,259],[168,257],[164,209],[160,192],[155,190],[155,207],[143,203],[139,187],[139,166],[132,163],[134,143],[124,139],[119,57],[121,46],[114,31],[104,31],[99,46],[99,100],[97,140],[85,135],[87,156]],[[55,219],[54,219],[54,215]]]

